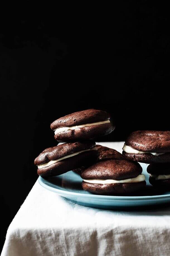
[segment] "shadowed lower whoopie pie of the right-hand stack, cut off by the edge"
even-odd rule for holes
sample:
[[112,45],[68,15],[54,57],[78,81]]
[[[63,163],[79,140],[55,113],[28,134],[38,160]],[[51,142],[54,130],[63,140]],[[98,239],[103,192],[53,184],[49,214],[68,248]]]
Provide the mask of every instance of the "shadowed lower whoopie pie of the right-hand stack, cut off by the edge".
[[150,164],[147,172],[150,174],[150,184],[165,189],[170,188],[170,163]]

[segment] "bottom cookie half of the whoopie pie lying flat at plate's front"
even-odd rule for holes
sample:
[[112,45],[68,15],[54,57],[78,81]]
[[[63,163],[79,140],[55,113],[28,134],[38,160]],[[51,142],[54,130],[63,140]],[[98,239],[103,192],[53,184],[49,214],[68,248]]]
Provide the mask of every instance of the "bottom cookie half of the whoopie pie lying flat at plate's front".
[[82,188],[88,192],[100,195],[129,194],[141,190],[146,181],[137,183],[96,184],[82,181]]

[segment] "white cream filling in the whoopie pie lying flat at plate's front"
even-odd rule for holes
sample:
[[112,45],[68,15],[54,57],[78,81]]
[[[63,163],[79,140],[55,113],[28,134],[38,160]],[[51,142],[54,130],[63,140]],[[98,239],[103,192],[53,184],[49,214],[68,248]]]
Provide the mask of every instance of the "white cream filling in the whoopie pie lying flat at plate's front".
[[83,180],[88,183],[96,183],[96,184],[113,184],[113,183],[136,183],[145,180],[145,175],[140,174],[135,178],[127,179],[127,180]]

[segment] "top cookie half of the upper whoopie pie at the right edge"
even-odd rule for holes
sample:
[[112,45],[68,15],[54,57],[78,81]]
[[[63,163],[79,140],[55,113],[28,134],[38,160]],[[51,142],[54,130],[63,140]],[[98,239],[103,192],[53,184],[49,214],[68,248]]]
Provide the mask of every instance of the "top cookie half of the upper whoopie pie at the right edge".
[[135,131],[125,144],[145,152],[170,152],[170,131]]

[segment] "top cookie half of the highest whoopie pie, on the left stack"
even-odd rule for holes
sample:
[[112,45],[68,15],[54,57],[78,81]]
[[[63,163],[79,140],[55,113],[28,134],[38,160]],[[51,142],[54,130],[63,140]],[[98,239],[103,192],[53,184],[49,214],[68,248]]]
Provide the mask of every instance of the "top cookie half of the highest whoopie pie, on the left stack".
[[51,129],[89,124],[110,119],[110,114],[102,110],[88,109],[60,117],[51,124]]

